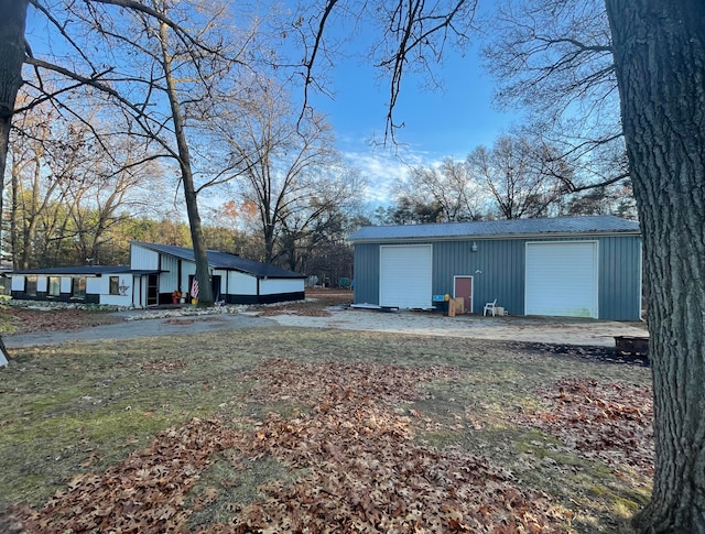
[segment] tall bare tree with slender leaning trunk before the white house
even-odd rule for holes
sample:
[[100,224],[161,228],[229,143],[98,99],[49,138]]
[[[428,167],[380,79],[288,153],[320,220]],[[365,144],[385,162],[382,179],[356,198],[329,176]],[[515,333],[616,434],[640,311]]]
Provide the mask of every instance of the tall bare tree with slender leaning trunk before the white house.
[[[100,99],[124,117],[116,123],[115,133],[141,139],[159,148],[159,157],[176,162],[197,264],[199,302],[208,304],[213,297],[194,171],[198,154],[192,150],[188,132],[209,119],[213,102],[224,96],[229,73],[246,63],[241,57],[252,44],[252,29],[232,21],[227,2],[209,0],[30,3],[45,17],[52,37],[63,40],[69,54],[46,59],[28,54],[24,62],[35,75],[25,79],[23,90],[34,102],[48,99],[78,118],[85,106],[75,105],[77,91],[89,102]],[[253,62],[253,57],[247,59]],[[56,89],[47,89],[50,77]],[[153,153],[147,156],[153,157]]]

